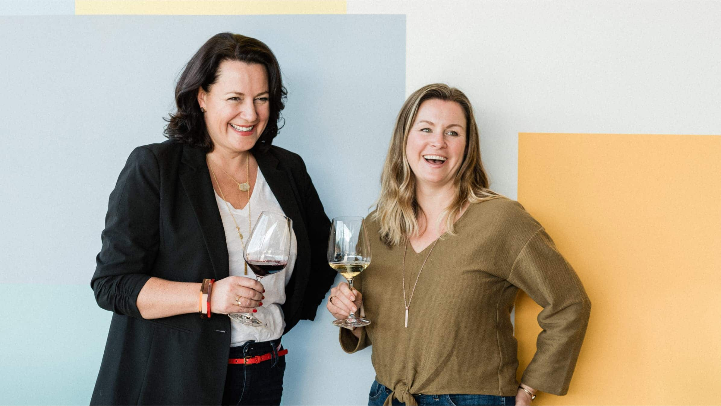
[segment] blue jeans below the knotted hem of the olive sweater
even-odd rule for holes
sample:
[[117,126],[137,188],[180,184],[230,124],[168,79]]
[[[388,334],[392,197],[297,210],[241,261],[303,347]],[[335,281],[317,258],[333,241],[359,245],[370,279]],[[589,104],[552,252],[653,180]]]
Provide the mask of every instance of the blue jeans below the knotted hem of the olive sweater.
[[[381,406],[391,393],[391,389],[373,381],[371,393],[368,394],[368,406]],[[461,406],[461,405],[516,405],[515,396],[496,396],[495,394],[414,394],[415,401],[420,406]],[[393,399],[393,405],[405,405]]]

